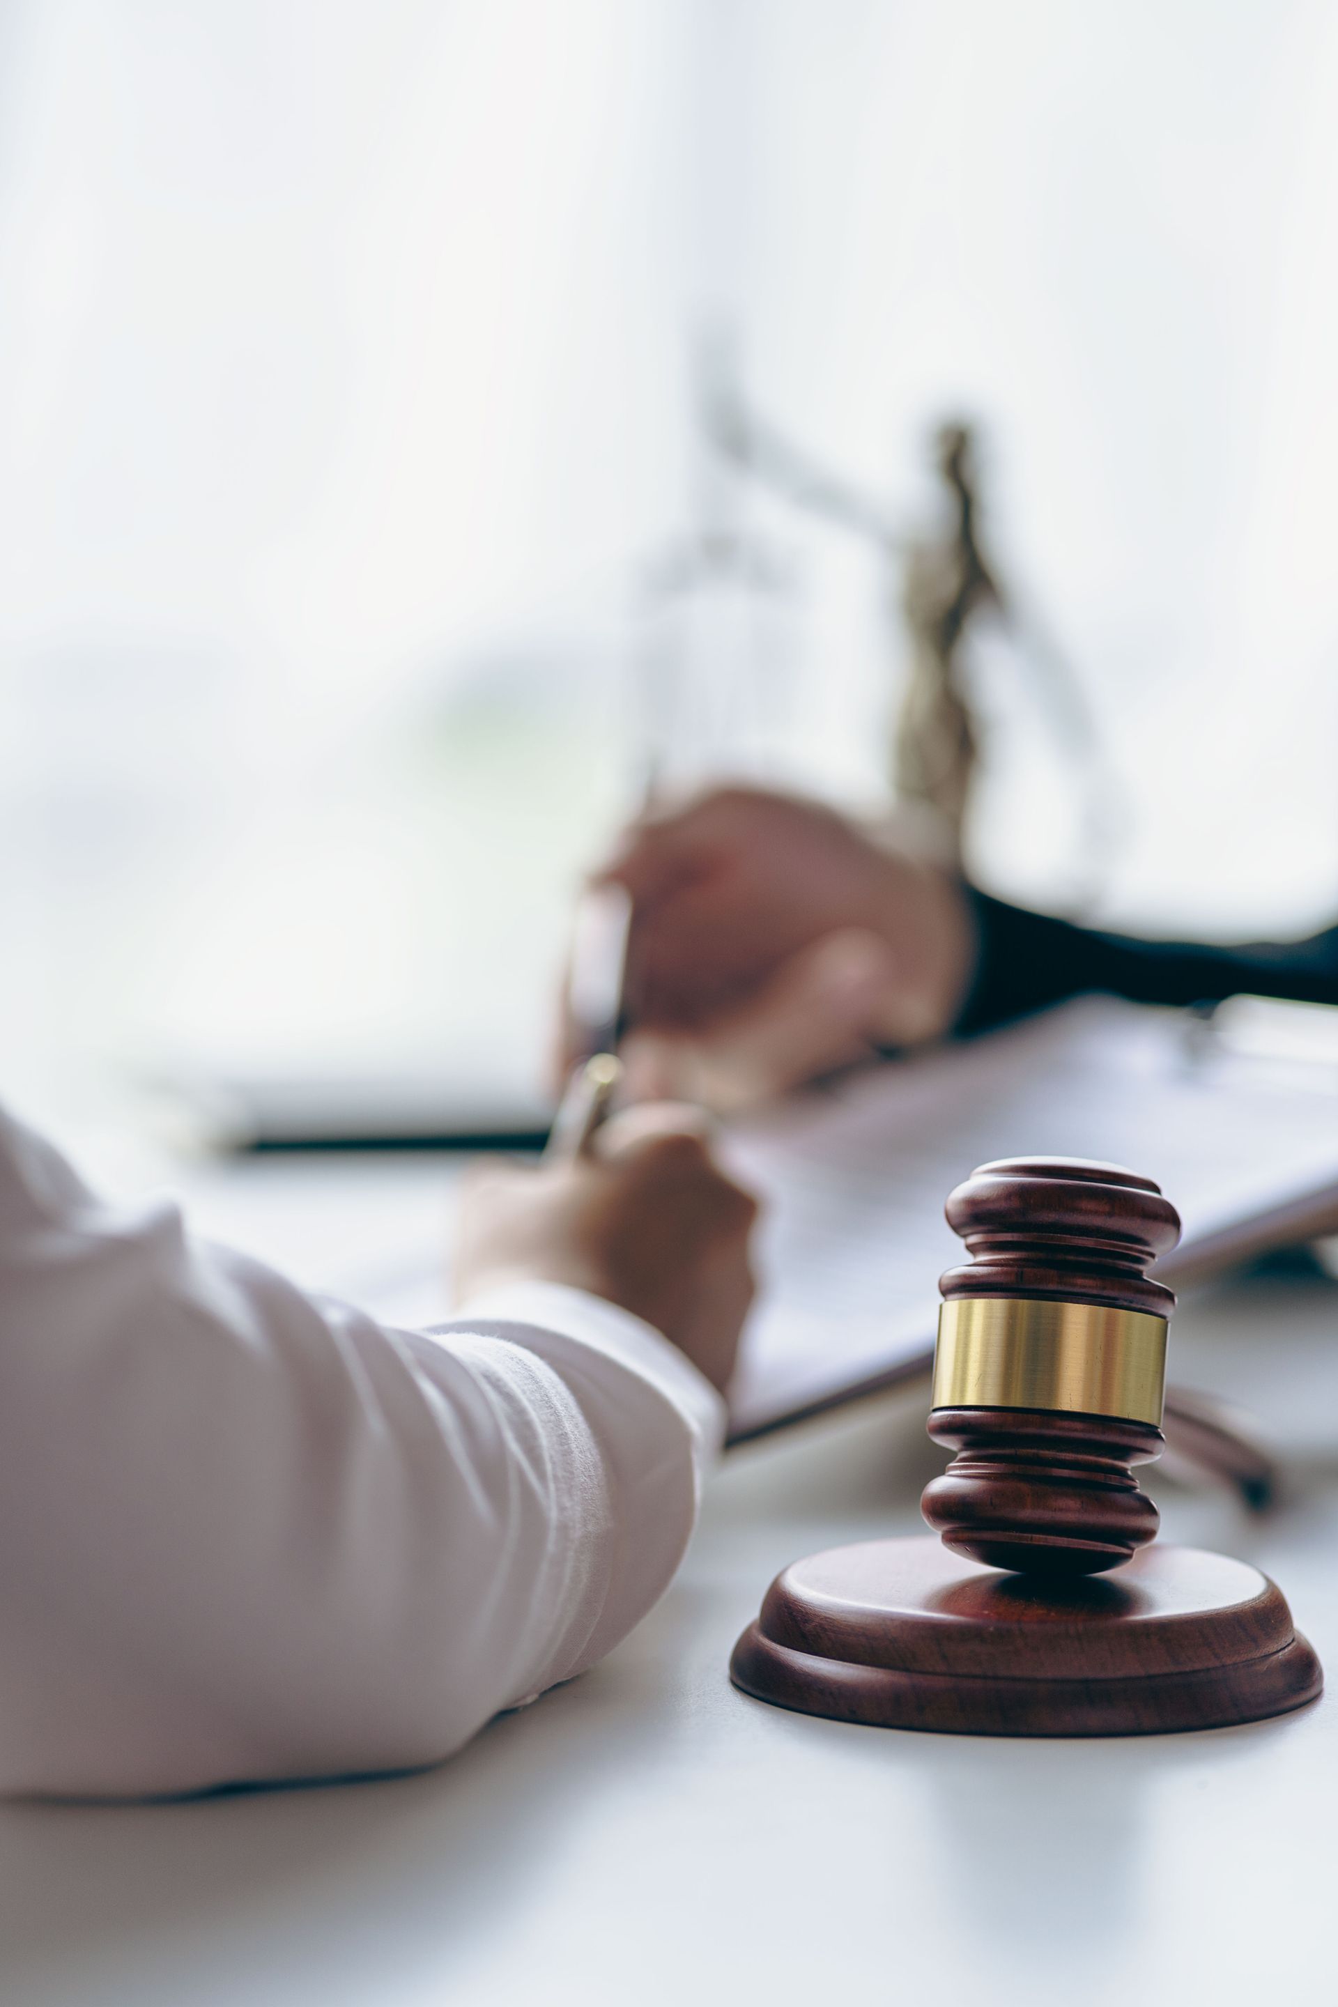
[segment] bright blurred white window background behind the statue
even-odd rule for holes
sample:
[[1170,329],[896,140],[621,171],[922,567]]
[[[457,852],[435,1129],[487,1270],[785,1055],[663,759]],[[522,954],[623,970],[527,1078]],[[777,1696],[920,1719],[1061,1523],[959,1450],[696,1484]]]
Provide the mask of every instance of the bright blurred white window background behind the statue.
[[526,1094],[648,769],[877,807],[975,440],[991,889],[1338,909],[1326,0],[6,0],[6,1082]]

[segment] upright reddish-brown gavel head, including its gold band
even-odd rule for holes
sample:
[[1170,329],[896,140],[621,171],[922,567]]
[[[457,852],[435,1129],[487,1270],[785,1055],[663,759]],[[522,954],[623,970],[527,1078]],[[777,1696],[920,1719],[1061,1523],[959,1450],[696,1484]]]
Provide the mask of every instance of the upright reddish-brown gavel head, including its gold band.
[[939,1288],[929,1433],[957,1451],[921,1499],[947,1547],[1031,1575],[1117,1567],[1157,1531],[1131,1475],[1161,1453],[1180,1240],[1151,1178],[1081,1158],[981,1164],[947,1202],[971,1260]]

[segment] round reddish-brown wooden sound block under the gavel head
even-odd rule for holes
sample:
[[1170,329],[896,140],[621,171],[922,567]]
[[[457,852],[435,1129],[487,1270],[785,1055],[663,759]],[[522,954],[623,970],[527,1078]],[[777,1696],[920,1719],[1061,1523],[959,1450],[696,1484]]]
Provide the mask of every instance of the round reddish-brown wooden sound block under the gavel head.
[[937,1539],[786,1567],[730,1678],[800,1714],[959,1736],[1226,1728],[1324,1684],[1282,1592],[1246,1561],[1151,1545],[1113,1575],[1045,1584]]

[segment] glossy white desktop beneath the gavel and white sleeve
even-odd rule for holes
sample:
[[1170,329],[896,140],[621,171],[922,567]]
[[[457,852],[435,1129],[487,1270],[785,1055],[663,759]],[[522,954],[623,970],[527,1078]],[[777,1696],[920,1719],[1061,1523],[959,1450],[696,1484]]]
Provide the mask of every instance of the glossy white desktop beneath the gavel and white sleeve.
[[4,2007],[1328,1997],[1338,1286],[1220,1286],[1172,1343],[1178,1379],[1288,1433],[1290,1497],[1250,1519],[1153,1475],[1165,1531],[1278,1578],[1332,1700],[1200,1736],[1003,1742],[732,1692],[780,1565],[917,1529],[941,1459],[917,1405],[883,1399],[736,1453],[660,1610],[431,1774],[2,1806]]

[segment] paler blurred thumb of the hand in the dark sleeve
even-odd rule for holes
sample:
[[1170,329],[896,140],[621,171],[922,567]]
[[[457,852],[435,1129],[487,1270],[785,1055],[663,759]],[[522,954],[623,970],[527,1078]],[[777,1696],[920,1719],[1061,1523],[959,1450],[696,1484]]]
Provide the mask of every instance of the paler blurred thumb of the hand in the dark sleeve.
[[899,957],[877,933],[843,927],[812,941],[746,1004],[690,1032],[634,1032],[626,1092],[732,1110],[867,1058],[895,1018]]

